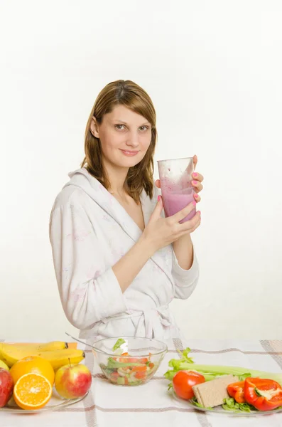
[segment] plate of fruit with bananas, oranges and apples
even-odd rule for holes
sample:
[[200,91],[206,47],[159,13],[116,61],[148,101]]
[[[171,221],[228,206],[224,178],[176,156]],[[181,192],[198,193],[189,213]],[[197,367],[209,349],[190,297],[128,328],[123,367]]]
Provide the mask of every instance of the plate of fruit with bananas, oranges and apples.
[[0,343],[0,411],[55,410],[84,399],[92,375],[85,353],[65,342]]

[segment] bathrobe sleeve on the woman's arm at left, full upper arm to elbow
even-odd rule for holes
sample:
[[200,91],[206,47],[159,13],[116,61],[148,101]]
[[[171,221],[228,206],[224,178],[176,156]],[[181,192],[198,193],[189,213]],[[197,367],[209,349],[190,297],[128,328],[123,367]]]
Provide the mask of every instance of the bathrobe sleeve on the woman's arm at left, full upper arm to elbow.
[[102,243],[80,204],[53,209],[50,243],[63,310],[80,330],[126,310],[112,267],[102,261]]

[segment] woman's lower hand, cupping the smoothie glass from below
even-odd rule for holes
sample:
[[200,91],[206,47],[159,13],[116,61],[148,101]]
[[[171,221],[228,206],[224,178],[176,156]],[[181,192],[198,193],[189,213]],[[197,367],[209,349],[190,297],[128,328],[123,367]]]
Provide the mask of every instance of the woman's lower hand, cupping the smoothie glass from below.
[[148,248],[150,248],[152,254],[158,251],[158,249],[177,241],[180,237],[185,236],[185,234],[192,233],[200,226],[200,211],[197,211],[190,221],[185,221],[185,223],[179,222],[190,214],[192,209],[195,208],[195,205],[196,202],[192,201],[177,214],[169,216],[168,218],[162,218],[161,211],[163,209],[163,200],[161,196],[158,196],[156,208],[153,210],[153,214],[151,214],[151,218],[142,235],[143,240],[148,243]]

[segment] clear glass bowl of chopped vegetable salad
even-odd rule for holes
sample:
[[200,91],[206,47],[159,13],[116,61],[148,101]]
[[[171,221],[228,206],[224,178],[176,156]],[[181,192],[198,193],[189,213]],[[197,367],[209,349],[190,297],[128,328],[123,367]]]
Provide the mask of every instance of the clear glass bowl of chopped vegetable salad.
[[139,386],[156,373],[168,347],[157,339],[113,337],[92,344],[92,352],[107,379],[119,386]]

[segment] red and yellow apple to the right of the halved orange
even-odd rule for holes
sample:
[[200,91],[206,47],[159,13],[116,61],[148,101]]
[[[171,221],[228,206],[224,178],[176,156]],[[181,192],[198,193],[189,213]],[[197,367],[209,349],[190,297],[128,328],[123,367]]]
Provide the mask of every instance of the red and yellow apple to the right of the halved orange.
[[55,374],[55,389],[65,399],[84,396],[90,389],[91,382],[91,372],[84,364],[65,365]]

